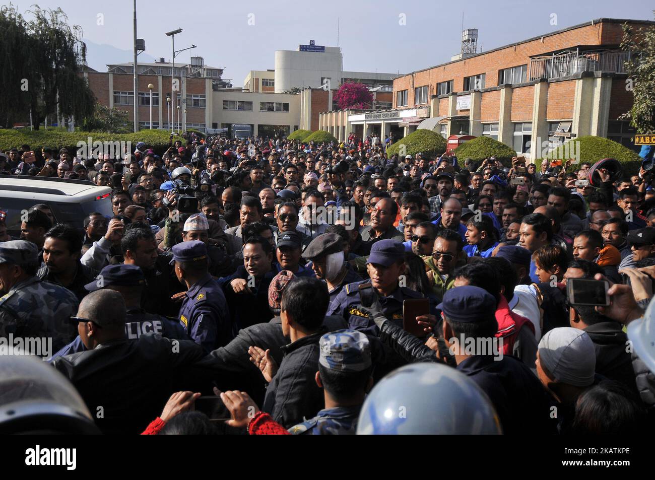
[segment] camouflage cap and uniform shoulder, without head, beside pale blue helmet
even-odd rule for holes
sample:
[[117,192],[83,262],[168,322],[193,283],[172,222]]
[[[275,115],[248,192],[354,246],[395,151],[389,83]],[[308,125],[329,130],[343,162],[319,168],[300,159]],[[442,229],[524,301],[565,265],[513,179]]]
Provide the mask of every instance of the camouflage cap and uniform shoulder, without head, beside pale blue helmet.
[[[341,375],[357,374],[371,368],[371,345],[359,331],[337,330],[326,333],[318,341],[321,351],[318,363],[323,369],[337,371]],[[289,429],[293,435],[353,435],[362,405],[333,407],[318,412]]]

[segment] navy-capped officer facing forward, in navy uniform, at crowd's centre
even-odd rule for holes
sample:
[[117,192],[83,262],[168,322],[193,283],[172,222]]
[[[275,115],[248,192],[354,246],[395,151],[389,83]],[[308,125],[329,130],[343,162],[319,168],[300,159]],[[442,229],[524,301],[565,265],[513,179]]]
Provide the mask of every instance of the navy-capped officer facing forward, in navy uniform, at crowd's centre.
[[[308,247],[309,248],[309,247]],[[360,280],[343,287],[341,293],[327,308],[328,315],[341,315],[354,330],[377,335],[378,329],[369,314],[358,305],[372,305],[375,299],[382,305],[384,316],[392,323],[403,326],[403,301],[424,298],[421,293],[400,286],[405,274],[405,248],[396,240],[379,240],[371,247],[366,263],[370,280]],[[433,305],[430,313],[436,314]]]

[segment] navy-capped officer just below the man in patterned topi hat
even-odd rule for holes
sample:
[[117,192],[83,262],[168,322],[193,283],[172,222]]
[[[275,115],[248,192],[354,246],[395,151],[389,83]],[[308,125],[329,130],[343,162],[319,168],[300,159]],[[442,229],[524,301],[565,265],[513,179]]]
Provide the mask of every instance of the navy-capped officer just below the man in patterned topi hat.
[[223,290],[208,271],[207,246],[199,240],[173,246],[175,274],[187,293],[179,322],[193,341],[211,352],[234,338]]

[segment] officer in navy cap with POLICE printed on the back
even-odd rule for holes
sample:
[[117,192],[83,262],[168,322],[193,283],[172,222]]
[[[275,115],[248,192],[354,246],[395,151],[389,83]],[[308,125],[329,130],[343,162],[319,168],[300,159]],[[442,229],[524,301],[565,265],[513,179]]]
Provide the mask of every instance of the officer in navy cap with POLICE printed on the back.
[[[125,301],[125,335],[128,340],[138,339],[145,333],[159,333],[167,339],[189,340],[184,327],[179,322],[157,314],[151,314],[141,308],[141,295],[145,288],[145,276],[136,265],[107,265],[93,282],[84,286],[87,291],[102,288],[116,290]],[[79,335],[62,350],[54,354],[51,360],[62,355],[83,352],[84,343]]]

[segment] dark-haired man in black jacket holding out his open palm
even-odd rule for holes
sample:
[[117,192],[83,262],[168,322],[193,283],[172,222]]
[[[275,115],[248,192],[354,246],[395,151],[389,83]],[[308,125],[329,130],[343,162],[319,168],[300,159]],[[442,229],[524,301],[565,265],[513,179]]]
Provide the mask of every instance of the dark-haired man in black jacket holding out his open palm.
[[327,311],[327,287],[316,278],[295,278],[282,296],[282,333],[291,343],[282,347],[278,368],[271,352],[253,346],[252,361],[269,382],[262,410],[286,428],[312,418],[324,408],[322,390],[315,381],[320,348],[327,332],[323,321]]

